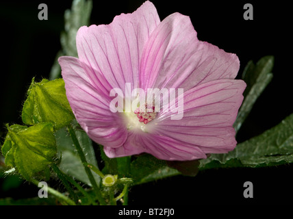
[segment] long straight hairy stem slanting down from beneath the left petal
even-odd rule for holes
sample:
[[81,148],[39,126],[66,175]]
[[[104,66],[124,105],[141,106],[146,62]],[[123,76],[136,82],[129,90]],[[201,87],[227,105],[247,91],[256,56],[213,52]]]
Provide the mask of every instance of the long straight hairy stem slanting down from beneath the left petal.
[[[79,158],[81,159],[82,164],[86,164],[86,156],[84,155],[84,151],[81,149],[81,146],[79,144],[79,141],[77,140],[77,136],[75,134],[75,131],[73,130],[73,127],[71,125],[68,125],[68,132],[71,135],[71,138],[73,140],[73,144],[75,145],[75,149],[77,150],[77,153],[79,155]],[[92,184],[92,188],[94,189],[94,192],[97,196],[97,199],[100,203],[100,205],[106,205],[105,200],[103,199],[101,192],[99,190],[99,187],[97,185],[97,182],[94,179],[94,176],[92,175],[92,172],[88,166],[84,166],[84,169],[86,170],[86,174],[88,175],[88,179],[90,180],[90,183]]]

